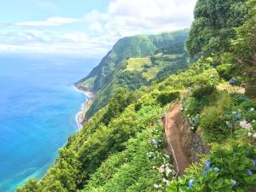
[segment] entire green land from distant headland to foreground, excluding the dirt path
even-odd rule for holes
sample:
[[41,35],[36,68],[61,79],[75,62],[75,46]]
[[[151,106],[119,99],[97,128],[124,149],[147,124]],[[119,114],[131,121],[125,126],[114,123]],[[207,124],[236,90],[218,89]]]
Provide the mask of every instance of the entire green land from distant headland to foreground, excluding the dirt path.
[[[256,0],[198,0],[187,49],[199,59],[185,31],[121,39],[79,82],[96,91],[91,118],[17,191],[255,191],[255,28]],[[164,134],[173,103],[191,161],[177,179]]]

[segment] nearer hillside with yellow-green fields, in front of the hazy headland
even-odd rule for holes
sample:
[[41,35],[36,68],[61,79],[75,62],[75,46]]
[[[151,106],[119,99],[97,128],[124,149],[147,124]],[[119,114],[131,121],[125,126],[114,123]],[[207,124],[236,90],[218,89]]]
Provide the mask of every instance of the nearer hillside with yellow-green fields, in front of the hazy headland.
[[92,103],[86,116],[90,118],[100,108],[105,106],[113,90],[117,86],[127,90],[137,90],[154,82],[155,79],[163,79],[178,70],[188,67],[187,55],[154,55],[146,58],[130,58],[122,61],[120,67],[113,72],[108,85],[98,90],[96,100]]

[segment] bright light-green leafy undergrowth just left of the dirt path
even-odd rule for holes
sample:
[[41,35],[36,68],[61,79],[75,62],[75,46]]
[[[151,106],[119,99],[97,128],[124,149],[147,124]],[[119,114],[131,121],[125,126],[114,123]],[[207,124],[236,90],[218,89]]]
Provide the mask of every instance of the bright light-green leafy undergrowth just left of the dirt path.
[[[143,108],[142,112],[145,109],[153,109],[150,108]],[[130,139],[126,143],[125,151],[110,156],[83,191],[157,191],[154,189],[154,183],[161,184],[165,189],[163,177],[172,178],[173,171],[170,172],[169,169],[172,170],[173,167],[166,165],[169,157],[164,155],[162,147],[156,144],[162,139],[161,129],[160,125],[153,125],[136,138]],[[152,138],[156,143],[150,144]],[[162,165],[166,166],[168,174],[158,172]]]

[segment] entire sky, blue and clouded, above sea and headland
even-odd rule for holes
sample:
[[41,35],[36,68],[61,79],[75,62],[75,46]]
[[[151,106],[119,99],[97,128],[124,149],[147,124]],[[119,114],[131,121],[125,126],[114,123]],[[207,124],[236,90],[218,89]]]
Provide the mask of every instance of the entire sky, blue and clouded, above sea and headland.
[[106,55],[119,39],[189,28],[196,0],[9,0],[0,54]]

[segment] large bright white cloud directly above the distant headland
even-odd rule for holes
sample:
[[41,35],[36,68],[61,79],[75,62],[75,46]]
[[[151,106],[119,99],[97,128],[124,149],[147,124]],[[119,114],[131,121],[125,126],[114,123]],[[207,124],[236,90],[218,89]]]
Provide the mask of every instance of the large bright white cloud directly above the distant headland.
[[108,13],[86,15],[91,33],[121,38],[138,33],[169,32],[189,27],[196,0],[113,0]]

